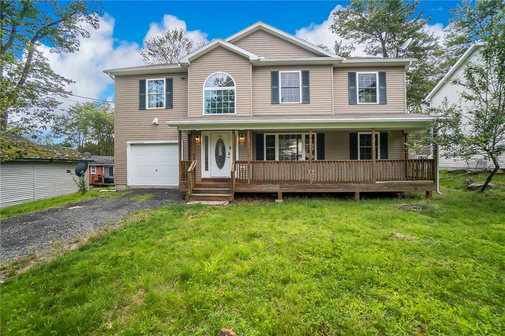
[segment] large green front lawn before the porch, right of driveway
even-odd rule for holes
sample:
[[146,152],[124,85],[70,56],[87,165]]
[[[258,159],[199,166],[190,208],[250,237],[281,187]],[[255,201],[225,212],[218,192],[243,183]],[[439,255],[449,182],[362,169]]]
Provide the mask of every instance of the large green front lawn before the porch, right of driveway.
[[2,333],[504,334],[505,187],[464,180],[429,201],[138,213],[2,284]]

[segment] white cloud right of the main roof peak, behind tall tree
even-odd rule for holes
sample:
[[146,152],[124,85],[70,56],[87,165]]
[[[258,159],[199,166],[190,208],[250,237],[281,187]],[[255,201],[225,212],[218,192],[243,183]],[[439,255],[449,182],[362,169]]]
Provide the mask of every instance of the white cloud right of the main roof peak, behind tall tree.
[[[337,5],[331,12],[326,20],[322,23],[315,24],[311,23],[308,27],[302,27],[296,30],[295,35],[299,38],[305,39],[316,45],[324,44],[333,51],[333,46],[335,41],[342,40],[344,44],[352,43],[350,40],[342,38],[330,30],[330,26],[333,23],[332,13],[342,11],[343,6]],[[444,26],[441,23],[435,23],[433,25],[426,25],[426,29],[432,32],[436,37],[439,37],[439,43],[443,41]],[[366,44],[357,44],[356,50],[351,53],[351,56],[366,56],[365,53]]]

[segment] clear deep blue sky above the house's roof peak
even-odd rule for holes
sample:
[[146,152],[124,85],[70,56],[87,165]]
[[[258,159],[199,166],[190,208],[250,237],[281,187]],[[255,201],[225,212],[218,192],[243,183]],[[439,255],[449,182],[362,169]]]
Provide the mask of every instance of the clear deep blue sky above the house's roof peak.
[[[104,10],[116,18],[114,36],[119,39],[142,42],[145,27],[159,21],[163,14],[172,14],[187,24],[188,30],[201,30],[209,39],[226,38],[257,21],[263,21],[294,34],[300,27],[321,23],[336,5],[346,1],[280,1],[280,2],[119,2],[104,3]],[[426,1],[422,3],[431,23],[447,24],[447,10],[455,1]],[[219,21],[219,24],[216,22]]]

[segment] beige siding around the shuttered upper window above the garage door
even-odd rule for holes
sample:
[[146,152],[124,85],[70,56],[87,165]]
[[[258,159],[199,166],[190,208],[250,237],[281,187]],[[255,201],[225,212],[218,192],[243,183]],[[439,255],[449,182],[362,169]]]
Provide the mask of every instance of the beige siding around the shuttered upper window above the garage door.
[[[184,76],[185,79],[181,79]],[[151,78],[174,79],[174,104],[172,109],[138,109],[138,81]],[[115,81],[115,182],[126,186],[127,141],[177,140],[177,129],[168,127],[169,119],[187,116],[187,74],[160,74],[142,76],[117,76]],[[158,125],[153,119],[158,118]],[[183,140],[187,138],[182,138]]]

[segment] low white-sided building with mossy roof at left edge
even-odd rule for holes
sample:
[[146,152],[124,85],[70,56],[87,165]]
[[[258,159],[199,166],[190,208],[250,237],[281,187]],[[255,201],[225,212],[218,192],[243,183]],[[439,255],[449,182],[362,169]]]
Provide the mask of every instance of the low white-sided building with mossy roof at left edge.
[[0,141],[0,207],[79,191],[74,169],[89,157],[20,137],[2,136]]

